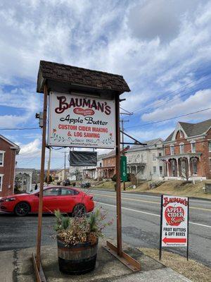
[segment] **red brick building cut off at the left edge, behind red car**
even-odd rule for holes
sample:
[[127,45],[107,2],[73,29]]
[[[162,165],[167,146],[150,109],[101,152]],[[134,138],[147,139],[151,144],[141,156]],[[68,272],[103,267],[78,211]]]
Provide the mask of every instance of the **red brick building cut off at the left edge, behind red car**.
[[15,180],[15,157],[20,147],[0,135],[0,197],[12,195]]

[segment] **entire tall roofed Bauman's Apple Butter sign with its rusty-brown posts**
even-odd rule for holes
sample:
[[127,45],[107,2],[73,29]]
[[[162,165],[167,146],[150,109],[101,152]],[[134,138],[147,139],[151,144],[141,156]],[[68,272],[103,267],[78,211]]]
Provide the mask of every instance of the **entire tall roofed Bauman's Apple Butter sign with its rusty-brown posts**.
[[[133,271],[139,262],[122,251],[122,211],[120,182],[120,94],[129,92],[122,75],[40,61],[37,92],[44,93],[41,146],[37,253],[32,254],[37,282],[46,281],[41,266],[41,225],[46,146],[113,148],[117,174],[117,247],[107,242],[106,250]],[[49,99],[48,142],[46,112]],[[97,132],[97,134],[96,134]],[[94,134],[95,133],[95,134]]]

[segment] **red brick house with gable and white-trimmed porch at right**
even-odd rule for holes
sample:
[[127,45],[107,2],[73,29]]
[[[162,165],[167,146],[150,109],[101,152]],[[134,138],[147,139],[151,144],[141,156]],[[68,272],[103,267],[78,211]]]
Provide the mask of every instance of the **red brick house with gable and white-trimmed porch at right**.
[[163,145],[166,179],[211,178],[211,119],[177,123]]

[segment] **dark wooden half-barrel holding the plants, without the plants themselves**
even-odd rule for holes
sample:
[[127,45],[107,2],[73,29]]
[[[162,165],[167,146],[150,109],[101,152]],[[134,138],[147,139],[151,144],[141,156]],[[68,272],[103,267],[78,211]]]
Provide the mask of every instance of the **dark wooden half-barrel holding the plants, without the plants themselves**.
[[79,243],[65,246],[60,240],[58,243],[58,266],[64,274],[85,274],[94,270],[96,264],[98,242]]

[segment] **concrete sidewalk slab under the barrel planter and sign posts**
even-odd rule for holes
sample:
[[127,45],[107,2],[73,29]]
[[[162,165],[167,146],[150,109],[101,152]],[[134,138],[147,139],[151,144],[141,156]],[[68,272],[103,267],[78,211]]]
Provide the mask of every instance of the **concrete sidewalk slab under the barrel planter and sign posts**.
[[[103,249],[105,241],[98,246],[96,269],[82,276],[68,276],[58,270],[56,245],[44,246],[41,250],[41,263],[48,282],[190,282],[189,279],[166,268],[160,262],[143,255],[142,252],[129,245],[123,245],[125,252],[141,263],[141,271],[133,273],[124,264]],[[34,282],[32,266],[34,248],[1,252],[0,281],[1,282]]]

